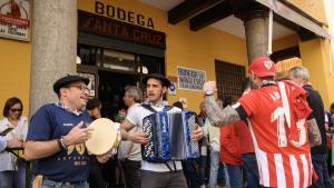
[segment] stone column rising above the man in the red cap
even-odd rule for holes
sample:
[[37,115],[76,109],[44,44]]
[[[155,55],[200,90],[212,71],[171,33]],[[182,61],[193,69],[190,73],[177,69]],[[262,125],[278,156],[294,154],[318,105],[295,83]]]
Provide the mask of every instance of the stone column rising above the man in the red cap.
[[267,56],[268,49],[268,9],[250,6],[244,12],[248,62],[259,56]]

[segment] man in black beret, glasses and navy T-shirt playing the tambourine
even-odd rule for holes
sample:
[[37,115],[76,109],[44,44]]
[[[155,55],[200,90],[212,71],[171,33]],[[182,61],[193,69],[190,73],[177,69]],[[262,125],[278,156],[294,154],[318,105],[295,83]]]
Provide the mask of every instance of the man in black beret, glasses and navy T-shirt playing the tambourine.
[[[66,76],[53,83],[59,101],[42,106],[31,117],[24,157],[36,160],[33,174],[42,187],[88,188],[89,156],[85,141],[91,118],[85,110],[89,80]],[[105,162],[110,156],[98,156]]]

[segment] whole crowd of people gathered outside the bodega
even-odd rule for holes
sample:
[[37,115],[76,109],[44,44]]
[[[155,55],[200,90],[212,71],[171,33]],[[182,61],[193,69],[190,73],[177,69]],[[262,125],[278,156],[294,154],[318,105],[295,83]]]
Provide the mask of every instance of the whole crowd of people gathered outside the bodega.
[[127,109],[112,119],[122,137],[115,156],[94,156],[85,146],[102,107],[88,98],[87,78],[58,79],[59,101],[42,106],[30,121],[21,100],[10,98],[0,120],[0,188],[334,187],[334,103],[324,108],[305,67],[292,68],[281,81],[268,58],[255,59],[248,70],[238,98],[215,100],[215,81],[205,82],[190,132],[200,155],[183,161],[143,158],[149,141],[143,120],[185,110],[181,102],[164,100],[170,81],[161,75],[143,79],[145,95],[136,86],[125,88]]

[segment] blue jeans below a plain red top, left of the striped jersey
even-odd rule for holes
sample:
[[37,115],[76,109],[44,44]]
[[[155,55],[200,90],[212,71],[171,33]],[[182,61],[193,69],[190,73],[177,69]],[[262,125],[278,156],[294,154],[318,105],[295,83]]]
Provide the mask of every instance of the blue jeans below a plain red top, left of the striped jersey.
[[242,188],[243,187],[243,170],[242,166],[225,165],[226,187]]

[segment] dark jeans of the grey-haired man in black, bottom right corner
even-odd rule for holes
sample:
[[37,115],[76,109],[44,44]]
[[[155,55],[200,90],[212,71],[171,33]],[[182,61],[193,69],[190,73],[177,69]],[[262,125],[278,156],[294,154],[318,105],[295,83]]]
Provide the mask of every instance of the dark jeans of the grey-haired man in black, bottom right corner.
[[312,184],[312,188],[333,188],[334,185],[327,169],[327,155],[312,154],[311,157],[314,170],[318,177],[317,181]]

